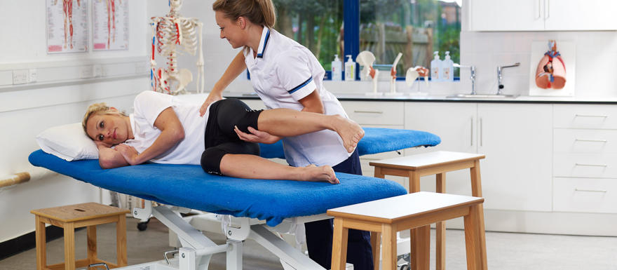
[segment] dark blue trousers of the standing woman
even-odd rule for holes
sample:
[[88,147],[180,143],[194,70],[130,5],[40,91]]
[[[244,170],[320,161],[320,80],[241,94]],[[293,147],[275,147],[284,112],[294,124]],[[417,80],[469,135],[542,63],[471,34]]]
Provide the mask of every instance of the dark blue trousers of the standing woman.
[[[345,161],[332,167],[335,172],[362,175],[358,149],[353,151]],[[333,220],[319,220],[304,224],[306,228],[306,246],[308,257],[325,269],[332,269],[332,232]],[[347,262],[353,264],[354,270],[373,270],[373,252],[369,231],[350,229],[347,244]]]

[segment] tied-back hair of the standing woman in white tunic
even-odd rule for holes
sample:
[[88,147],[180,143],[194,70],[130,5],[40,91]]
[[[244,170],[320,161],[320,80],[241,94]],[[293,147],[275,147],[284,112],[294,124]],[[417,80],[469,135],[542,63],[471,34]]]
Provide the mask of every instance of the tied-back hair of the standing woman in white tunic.
[[216,0],[212,10],[221,11],[233,21],[244,17],[256,25],[268,28],[273,28],[276,22],[272,0]]

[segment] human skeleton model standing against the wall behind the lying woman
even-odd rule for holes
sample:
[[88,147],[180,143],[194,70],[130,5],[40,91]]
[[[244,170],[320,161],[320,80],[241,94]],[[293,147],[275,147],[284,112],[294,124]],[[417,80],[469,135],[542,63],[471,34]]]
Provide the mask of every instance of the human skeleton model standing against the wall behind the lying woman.
[[[182,0],[170,0],[170,11],[165,17],[152,17],[152,57],[150,60],[150,79],[155,91],[177,95],[186,93],[187,84],[193,81],[189,69],[178,69],[179,49],[195,55],[197,60],[197,93],[203,91],[203,51],[201,48],[201,29],[203,24],[196,18],[182,18],[179,10]],[[156,69],[154,51],[167,58],[165,69]]]

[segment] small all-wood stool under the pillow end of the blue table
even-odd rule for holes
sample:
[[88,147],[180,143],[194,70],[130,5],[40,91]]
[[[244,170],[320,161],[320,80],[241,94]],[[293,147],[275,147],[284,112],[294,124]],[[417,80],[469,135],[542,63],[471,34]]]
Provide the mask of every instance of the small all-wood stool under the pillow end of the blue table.
[[[36,217],[36,269],[74,270],[89,264],[104,263],[110,268],[126,266],[126,209],[99,203],[81,203],[30,211]],[[116,222],[118,264],[97,259],[96,225]],[[65,262],[47,265],[45,224],[65,229]],[[75,260],[75,229],[88,227],[88,258]]]

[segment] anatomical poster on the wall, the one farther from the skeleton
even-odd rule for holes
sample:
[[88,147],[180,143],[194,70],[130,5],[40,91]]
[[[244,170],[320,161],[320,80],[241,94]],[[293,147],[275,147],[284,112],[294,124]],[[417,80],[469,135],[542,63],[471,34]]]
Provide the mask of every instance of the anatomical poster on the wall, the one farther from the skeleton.
[[47,53],[88,51],[88,1],[46,0]]

